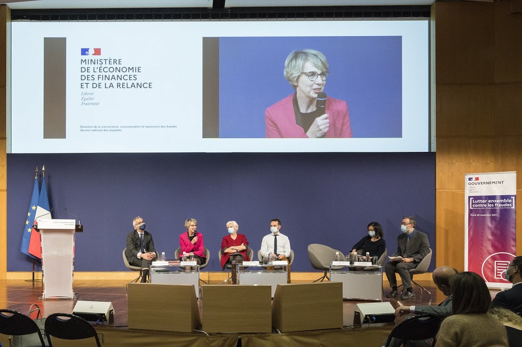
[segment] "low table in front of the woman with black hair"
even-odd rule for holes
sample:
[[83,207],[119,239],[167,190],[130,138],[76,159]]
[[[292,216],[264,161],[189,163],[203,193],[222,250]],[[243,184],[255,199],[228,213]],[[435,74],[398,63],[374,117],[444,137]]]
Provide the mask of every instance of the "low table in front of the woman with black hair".
[[[383,267],[330,265],[330,281],[342,282],[342,298],[349,300],[383,300]],[[335,268],[335,269],[332,269]]]

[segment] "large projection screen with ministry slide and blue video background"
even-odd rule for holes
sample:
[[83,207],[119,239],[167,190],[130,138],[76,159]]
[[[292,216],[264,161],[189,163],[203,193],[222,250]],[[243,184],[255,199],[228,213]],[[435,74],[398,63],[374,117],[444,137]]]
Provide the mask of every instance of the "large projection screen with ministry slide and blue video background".
[[[8,142],[13,153],[429,149],[426,20],[13,22],[11,26]],[[66,40],[64,138],[44,138],[44,38]],[[216,38],[216,56],[204,56],[207,38]],[[294,46],[288,44],[292,40]],[[379,53],[379,40],[389,43],[391,50],[399,49],[400,61],[393,71],[386,70],[387,53]],[[273,49],[261,51],[264,46]],[[325,92],[347,101],[353,138],[265,138],[266,107],[293,92],[283,77],[284,57],[306,48],[329,52]],[[82,55],[84,49],[90,55]],[[219,129],[213,138],[203,135],[203,119],[208,116],[203,105],[209,102],[203,90],[211,79],[203,74],[207,61],[219,63],[215,71]],[[372,75],[374,66],[383,73]],[[388,103],[390,94],[398,97]]]

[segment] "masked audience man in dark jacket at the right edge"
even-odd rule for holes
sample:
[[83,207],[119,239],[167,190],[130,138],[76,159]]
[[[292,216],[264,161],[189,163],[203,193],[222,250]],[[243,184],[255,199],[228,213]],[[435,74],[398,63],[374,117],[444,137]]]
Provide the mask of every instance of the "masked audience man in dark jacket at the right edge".
[[503,307],[522,316],[522,256],[513,258],[504,272],[504,278],[513,283],[511,289],[499,292],[491,307]]

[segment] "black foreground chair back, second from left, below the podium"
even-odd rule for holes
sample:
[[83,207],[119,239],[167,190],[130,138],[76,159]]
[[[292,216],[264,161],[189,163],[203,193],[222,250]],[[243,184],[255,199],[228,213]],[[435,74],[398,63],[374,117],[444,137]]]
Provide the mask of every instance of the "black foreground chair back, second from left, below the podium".
[[51,336],[64,340],[80,340],[94,338],[98,347],[101,347],[96,330],[84,318],[68,313],[53,313],[45,319],[45,333],[49,345],[52,346]]

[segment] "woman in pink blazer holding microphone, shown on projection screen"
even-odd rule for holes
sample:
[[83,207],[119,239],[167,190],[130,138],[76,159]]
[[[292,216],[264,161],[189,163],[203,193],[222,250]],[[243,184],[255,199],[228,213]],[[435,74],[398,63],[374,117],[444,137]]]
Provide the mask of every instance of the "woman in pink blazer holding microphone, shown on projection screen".
[[328,74],[323,53],[290,53],[284,62],[284,77],[295,93],[266,109],[266,137],[352,137],[348,104],[324,93]]

